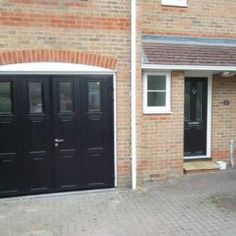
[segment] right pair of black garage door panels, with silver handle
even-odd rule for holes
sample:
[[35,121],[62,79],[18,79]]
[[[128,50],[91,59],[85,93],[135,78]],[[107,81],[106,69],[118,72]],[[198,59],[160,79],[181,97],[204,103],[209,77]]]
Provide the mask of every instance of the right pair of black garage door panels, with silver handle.
[[54,76],[56,190],[112,187],[111,76]]

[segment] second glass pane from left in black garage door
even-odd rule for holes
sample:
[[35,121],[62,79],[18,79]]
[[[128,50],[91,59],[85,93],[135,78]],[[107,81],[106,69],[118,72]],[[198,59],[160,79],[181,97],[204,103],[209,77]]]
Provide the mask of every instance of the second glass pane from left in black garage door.
[[29,83],[29,103],[30,113],[42,113],[42,83],[31,82]]

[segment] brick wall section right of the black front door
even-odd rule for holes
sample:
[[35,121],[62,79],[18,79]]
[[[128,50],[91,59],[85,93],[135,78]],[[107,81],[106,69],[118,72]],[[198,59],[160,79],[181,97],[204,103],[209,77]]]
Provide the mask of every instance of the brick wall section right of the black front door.
[[236,77],[214,76],[212,90],[212,158],[229,160],[229,141],[236,142]]

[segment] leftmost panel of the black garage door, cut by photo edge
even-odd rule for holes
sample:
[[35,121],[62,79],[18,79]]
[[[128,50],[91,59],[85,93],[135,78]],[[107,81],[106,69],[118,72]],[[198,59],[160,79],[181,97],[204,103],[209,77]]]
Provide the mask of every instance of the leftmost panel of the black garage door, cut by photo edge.
[[3,76],[0,81],[0,192],[14,195],[22,185],[22,144],[19,81]]

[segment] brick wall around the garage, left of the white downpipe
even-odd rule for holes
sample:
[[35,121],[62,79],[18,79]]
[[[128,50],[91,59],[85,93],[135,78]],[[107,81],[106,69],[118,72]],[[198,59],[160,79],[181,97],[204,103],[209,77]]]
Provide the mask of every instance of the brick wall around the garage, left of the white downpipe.
[[33,61],[117,71],[118,185],[130,185],[130,1],[1,1],[0,64]]

